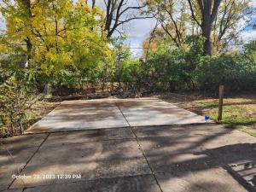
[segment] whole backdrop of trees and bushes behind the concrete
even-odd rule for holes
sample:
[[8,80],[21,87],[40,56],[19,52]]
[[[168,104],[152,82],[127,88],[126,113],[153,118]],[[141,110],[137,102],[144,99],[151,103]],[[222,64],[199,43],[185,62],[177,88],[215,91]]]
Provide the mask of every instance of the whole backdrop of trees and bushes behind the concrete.
[[[256,41],[238,49],[230,47],[230,42],[242,43],[238,26],[251,14],[249,1],[222,1],[207,38],[196,22],[205,20],[197,3],[192,8],[194,18],[189,0],[142,2],[143,6],[133,9],[143,7],[141,14],[153,14],[160,27],[156,26],[143,42],[143,55],[137,59],[127,49],[125,35],[112,35],[121,24],[110,27],[109,22],[115,19],[95,4],[83,0],[3,0],[2,135],[22,132],[26,112],[39,98],[50,94],[107,91],[108,96],[142,96],[163,90],[216,93],[219,84],[235,92],[256,90]],[[112,9],[116,10],[114,6]],[[131,19],[136,17],[131,15]],[[211,54],[206,54],[206,40],[211,43]]]

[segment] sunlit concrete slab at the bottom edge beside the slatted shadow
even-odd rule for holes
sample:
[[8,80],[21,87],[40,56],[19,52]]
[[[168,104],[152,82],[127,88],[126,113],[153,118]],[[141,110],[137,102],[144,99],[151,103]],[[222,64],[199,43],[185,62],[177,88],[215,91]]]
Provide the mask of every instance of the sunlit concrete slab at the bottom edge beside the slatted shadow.
[[222,168],[156,174],[156,177],[163,192],[247,191]]

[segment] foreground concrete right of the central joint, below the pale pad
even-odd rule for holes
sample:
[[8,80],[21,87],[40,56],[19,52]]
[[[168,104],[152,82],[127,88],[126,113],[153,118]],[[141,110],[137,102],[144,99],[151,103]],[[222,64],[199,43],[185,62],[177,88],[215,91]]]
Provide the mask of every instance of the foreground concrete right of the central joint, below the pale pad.
[[254,191],[256,138],[219,125],[204,126],[134,128],[149,165],[163,173],[163,191],[234,191],[234,186],[244,191],[237,181]]

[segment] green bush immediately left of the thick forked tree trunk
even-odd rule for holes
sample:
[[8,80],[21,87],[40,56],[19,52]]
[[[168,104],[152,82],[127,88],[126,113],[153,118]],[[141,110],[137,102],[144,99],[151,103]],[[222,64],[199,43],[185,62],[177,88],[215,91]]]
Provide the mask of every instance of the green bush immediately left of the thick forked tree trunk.
[[170,47],[166,39],[156,53],[149,54],[143,65],[143,81],[149,90],[195,88],[194,72],[203,54],[203,39],[190,36],[184,40],[184,49]]

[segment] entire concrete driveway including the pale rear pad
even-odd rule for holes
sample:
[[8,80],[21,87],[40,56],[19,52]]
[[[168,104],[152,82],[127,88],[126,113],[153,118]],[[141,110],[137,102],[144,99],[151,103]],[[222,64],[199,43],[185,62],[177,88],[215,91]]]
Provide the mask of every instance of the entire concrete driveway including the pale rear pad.
[[27,133],[1,140],[0,191],[255,191],[255,137],[158,99],[62,102]]

